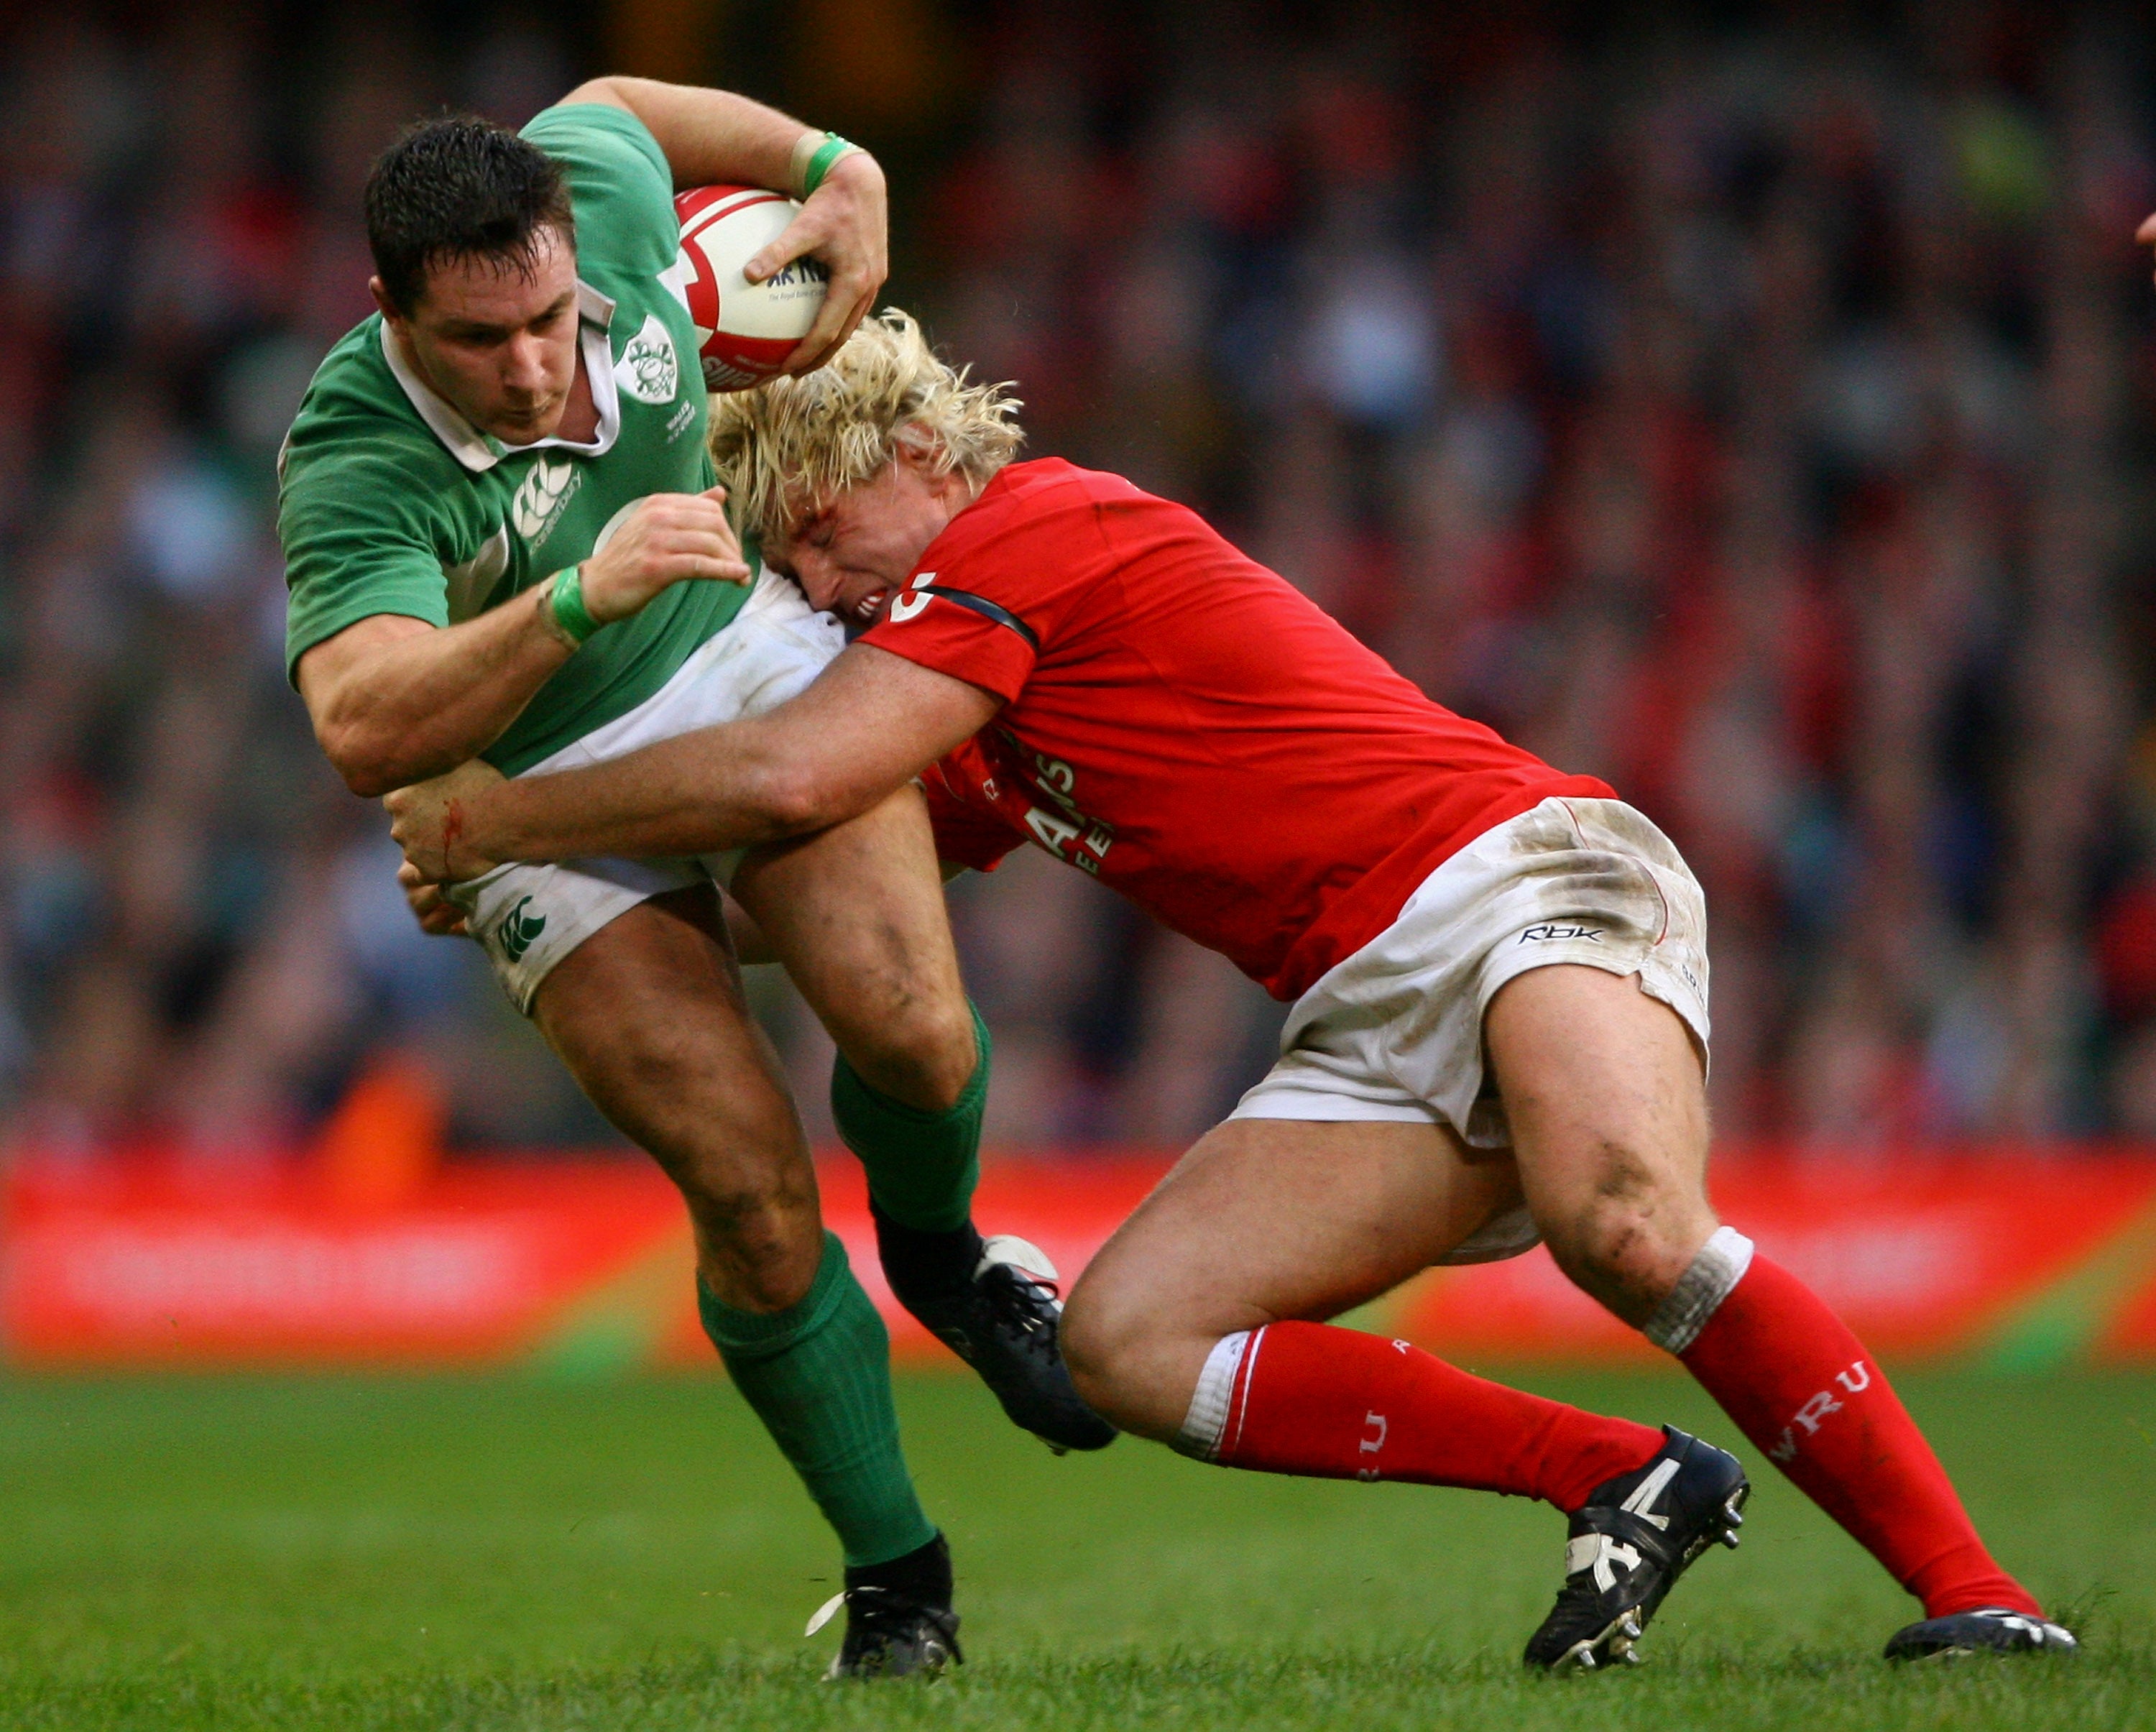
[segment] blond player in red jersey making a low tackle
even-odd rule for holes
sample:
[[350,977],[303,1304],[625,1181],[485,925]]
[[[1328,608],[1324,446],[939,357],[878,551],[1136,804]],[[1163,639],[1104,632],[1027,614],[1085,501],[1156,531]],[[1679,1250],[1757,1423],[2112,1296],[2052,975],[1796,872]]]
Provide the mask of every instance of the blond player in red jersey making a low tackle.
[[410,869],[703,854],[923,779],[946,861],[1031,841],[1294,1001],[1281,1059],[1080,1279],[1087,1400],[1229,1467],[1542,1497],[1546,1667],[1628,1659],[1736,1542],[1736,1458],[1324,1320],[1539,1240],[1923,1603],[1889,1657],[2072,1650],[1878,1363],[1708,1204],[1699,884],[1641,813],[1393,673],[1192,511],[1011,462],[910,319],[714,408],[763,556],[862,636],[800,697],[610,764],[392,796]]

